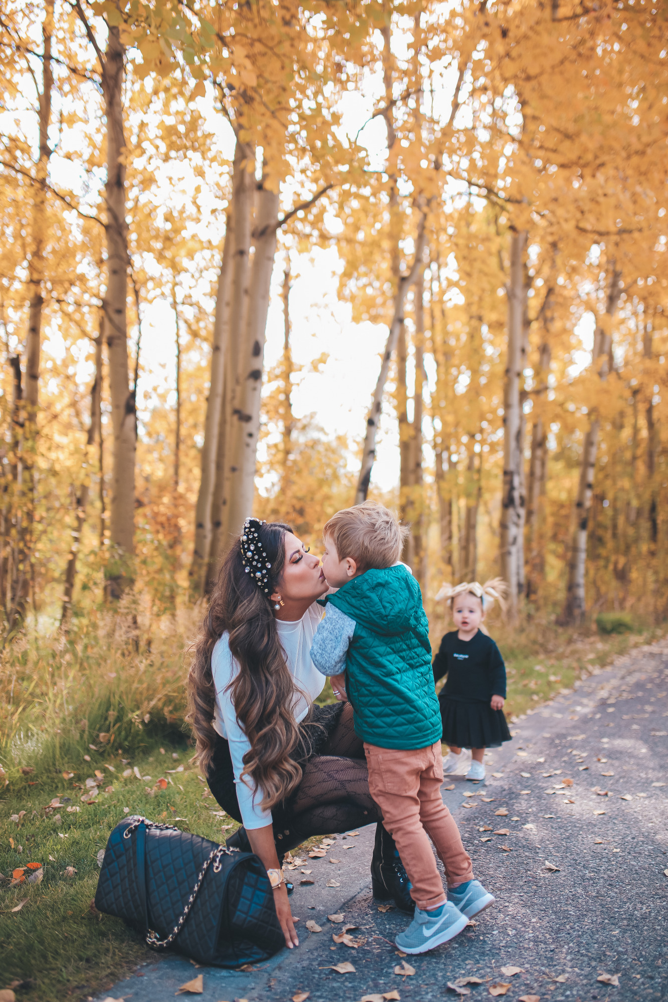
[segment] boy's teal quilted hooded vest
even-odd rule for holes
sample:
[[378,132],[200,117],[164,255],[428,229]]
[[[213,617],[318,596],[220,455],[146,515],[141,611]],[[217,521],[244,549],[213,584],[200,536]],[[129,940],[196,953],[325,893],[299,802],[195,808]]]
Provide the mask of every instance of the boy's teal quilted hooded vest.
[[367,570],[321,599],[356,622],[346,660],[355,732],[383,748],[423,748],[442,734],[422,595],[399,565]]

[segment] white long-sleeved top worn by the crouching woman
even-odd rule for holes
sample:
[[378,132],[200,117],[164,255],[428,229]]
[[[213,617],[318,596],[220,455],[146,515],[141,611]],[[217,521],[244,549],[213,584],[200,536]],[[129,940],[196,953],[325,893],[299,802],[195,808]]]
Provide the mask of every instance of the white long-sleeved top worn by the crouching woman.
[[[286,661],[297,688],[292,707],[297,723],[304,719],[311,702],[320,695],[325,686],[325,676],[318,671],[311,660],[311,644],[322,615],[322,607],[314,602],[301,619],[294,622],[276,620]],[[244,756],[250,749],[251,743],[237,719],[232,693],[229,690],[230,683],[239,672],[239,663],[230,651],[227,631],[214,647],[211,667],[216,688],[214,727],[221,737],[225,737],[230,742],[230,754],[237,785],[237,799],[244,828],[251,831],[256,828],[265,828],[267,825],[271,825],[272,815],[270,811],[265,811],[260,807],[262,793],[256,791],[249,777],[241,779]]]

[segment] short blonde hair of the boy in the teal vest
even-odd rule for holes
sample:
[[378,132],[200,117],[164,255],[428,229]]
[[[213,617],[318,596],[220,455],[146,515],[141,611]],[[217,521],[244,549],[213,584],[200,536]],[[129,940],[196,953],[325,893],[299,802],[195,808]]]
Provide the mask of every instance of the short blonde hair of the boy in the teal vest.
[[395,564],[408,532],[396,515],[376,501],[337,511],[322,530],[323,538],[336,547],[339,560],[352,557],[358,570],[382,570]]

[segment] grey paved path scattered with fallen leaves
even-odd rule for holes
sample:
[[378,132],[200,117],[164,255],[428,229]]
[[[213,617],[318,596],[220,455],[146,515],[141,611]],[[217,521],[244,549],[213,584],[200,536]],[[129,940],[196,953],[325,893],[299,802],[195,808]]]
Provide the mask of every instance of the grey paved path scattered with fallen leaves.
[[[297,992],[309,992],[309,1002],[360,1002],[392,990],[402,1002],[433,1002],[455,999],[447,982],[467,976],[483,981],[469,986],[471,1002],[488,998],[496,982],[510,984],[505,997],[513,1000],[666,999],[667,738],[668,644],[661,643],[522,717],[513,741],[492,753],[484,785],[446,781],[455,789],[444,792],[445,802],[496,904],[451,943],[407,958],[414,975],[393,973],[401,963],[393,939],[406,918],[380,913],[371,898],[368,829],[338,837],[328,858],[309,861],[316,884],[292,899],[298,950],[250,973],[196,971],[165,957],[98,998],[162,1002],[203,973],[203,1002],[288,1002]],[[324,886],[333,876],[338,889]],[[363,946],[334,945],[337,927],[326,916],[335,912],[358,927],[353,935],[366,938]],[[322,932],[306,934],[308,919]],[[356,972],[328,968],[341,961]],[[505,975],[508,965],[523,971]],[[619,985],[600,975],[617,975]]]

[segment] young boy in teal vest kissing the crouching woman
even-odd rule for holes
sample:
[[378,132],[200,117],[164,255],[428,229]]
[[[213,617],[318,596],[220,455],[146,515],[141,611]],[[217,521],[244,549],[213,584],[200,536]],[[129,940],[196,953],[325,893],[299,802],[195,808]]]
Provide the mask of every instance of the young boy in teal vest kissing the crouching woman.
[[[404,953],[452,939],[493,897],[442,802],[441,722],[420,589],[399,563],[406,529],[375,502],[337,512],[323,530],[323,570],[335,594],[311,647],[313,663],[350,699],[364,740],[369,790],[411,883],[415,914],[396,937]],[[337,696],[338,698],[339,696]],[[443,892],[429,839],[447,877]]]

